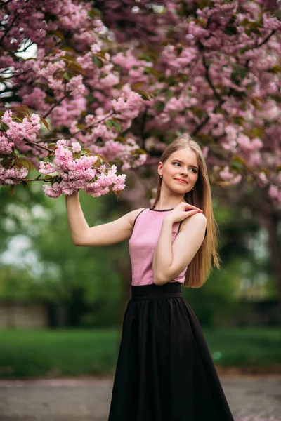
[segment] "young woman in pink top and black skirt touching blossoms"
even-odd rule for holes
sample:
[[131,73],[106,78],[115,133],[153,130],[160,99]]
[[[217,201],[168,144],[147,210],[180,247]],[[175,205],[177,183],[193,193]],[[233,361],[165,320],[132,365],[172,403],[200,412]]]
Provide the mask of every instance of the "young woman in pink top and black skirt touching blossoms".
[[181,286],[219,267],[211,189],[199,145],[177,138],[158,164],[152,208],[89,227],[66,196],[74,244],[129,239],[131,300],[124,314],[108,421],[233,421],[211,354]]

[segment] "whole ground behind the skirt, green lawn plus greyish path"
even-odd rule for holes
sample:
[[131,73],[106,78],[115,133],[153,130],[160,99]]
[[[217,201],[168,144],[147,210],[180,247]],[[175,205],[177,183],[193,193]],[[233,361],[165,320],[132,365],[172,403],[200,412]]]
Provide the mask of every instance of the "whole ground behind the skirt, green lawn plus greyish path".
[[[204,329],[235,421],[281,421],[279,328]],[[119,331],[1,332],[0,421],[107,421]]]

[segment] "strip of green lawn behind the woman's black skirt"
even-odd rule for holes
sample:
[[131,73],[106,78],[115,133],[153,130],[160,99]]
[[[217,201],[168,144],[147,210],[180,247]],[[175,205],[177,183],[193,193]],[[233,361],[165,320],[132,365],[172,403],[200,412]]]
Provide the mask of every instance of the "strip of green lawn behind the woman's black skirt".
[[[203,329],[216,366],[281,366],[279,328]],[[119,330],[0,330],[0,378],[113,374]]]

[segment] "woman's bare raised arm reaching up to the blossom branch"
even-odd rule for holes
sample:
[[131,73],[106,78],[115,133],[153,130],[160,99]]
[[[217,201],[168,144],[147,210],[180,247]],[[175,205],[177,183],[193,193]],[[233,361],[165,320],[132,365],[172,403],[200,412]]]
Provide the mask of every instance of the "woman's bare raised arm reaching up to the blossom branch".
[[70,234],[75,246],[110,246],[129,238],[133,232],[133,221],[143,209],[132,210],[112,222],[89,227],[81,209],[78,192],[65,196],[65,203]]

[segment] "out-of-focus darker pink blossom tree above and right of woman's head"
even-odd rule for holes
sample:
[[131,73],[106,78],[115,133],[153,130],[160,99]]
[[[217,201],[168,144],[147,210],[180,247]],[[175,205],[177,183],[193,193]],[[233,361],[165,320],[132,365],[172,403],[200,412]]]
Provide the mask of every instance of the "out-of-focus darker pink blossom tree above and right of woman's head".
[[98,5],[119,44],[138,39],[154,64],[144,74],[159,84],[141,125],[149,161],[176,134],[200,142],[216,195],[247,207],[268,233],[281,314],[280,1]]

